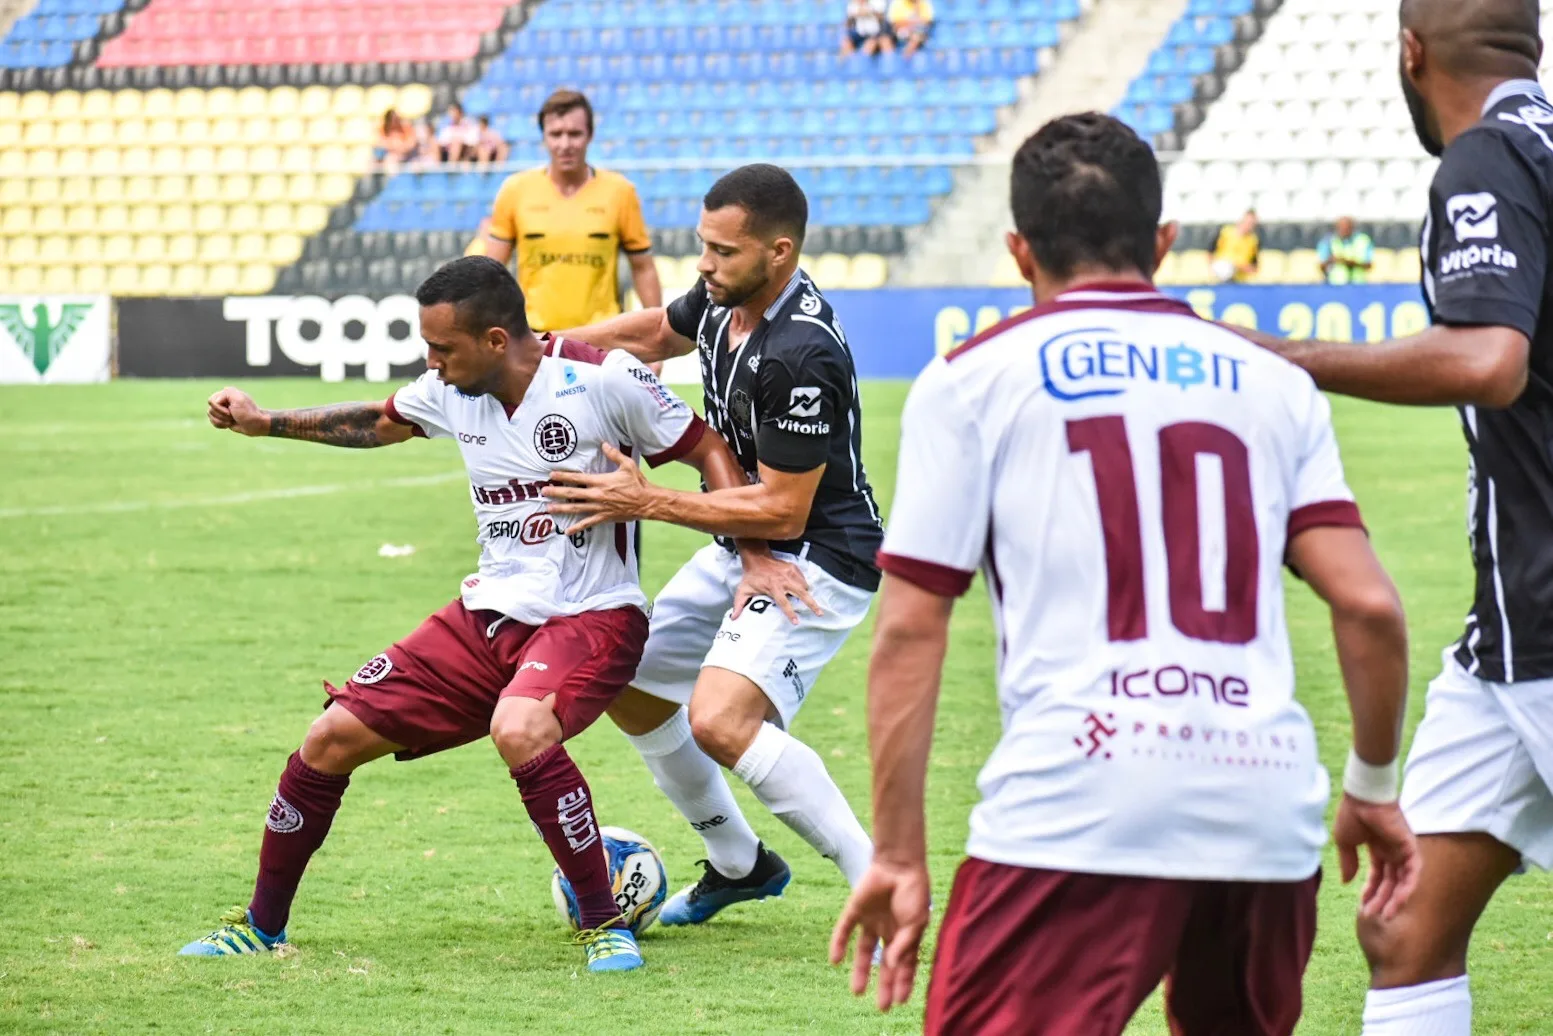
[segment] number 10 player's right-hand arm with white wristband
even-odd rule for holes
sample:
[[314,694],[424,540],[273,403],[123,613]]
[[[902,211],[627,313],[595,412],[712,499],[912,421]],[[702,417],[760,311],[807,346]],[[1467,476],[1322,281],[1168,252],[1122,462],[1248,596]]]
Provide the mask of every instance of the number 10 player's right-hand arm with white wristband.
[[1391,578],[1362,528],[1317,527],[1289,542],[1289,564],[1332,610],[1337,663],[1348,691],[1354,742],[1332,840],[1343,881],[1370,848],[1360,913],[1396,915],[1418,884],[1419,857],[1398,806],[1396,764],[1407,708],[1407,620]]

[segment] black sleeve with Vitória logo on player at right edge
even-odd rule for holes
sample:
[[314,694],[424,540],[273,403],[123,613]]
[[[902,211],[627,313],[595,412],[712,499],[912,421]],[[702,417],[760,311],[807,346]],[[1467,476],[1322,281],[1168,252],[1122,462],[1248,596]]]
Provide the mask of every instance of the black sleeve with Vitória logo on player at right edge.
[[1452,143],[1430,189],[1435,202],[1435,322],[1505,326],[1528,339],[1547,275],[1547,200],[1536,171],[1503,132]]

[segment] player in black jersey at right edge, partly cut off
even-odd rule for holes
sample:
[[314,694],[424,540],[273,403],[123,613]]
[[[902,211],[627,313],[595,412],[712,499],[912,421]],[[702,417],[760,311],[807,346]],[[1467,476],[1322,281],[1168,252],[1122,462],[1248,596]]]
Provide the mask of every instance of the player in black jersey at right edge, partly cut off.
[[[1523,864],[1553,867],[1553,106],[1533,0],[1404,0],[1402,93],[1440,155],[1423,235],[1433,326],[1376,345],[1264,345],[1323,388],[1454,404],[1477,575],[1413,738],[1401,803],[1418,892],[1360,918],[1365,1036],[1466,1036],[1468,940]],[[1261,337],[1259,337],[1261,340]],[[1365,775],[1396,795],[1396,775]]]

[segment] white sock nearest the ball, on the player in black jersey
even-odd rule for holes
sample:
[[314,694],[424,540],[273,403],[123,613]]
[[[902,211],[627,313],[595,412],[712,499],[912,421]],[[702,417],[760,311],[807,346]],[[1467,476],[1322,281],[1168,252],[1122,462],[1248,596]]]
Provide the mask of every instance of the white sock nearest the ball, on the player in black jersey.
[[690,736],[690,714],[680,708],[657,730],[627,741],[652,770],[658,791],[690,820],[707,843],[707,860],[717,873],[744,878],[755,870],[759,839],[750,829],[722,767]]

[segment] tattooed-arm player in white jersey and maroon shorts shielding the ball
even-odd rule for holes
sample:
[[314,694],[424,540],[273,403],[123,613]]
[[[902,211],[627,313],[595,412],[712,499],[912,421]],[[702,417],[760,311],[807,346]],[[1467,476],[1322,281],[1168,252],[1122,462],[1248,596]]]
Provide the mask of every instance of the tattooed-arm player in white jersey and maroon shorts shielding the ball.
[[[261,410],[224,388],[210,421],[242,435],[329,446],[458,441],[480,523],[480,568],[458,600],[363,665],[292,753],[270,805],[247,909],[183,954],[273,949],[307,860],[323,845],[349,775],[385,755],[413,760],[486,735],[576,890],[590,971],[641,955],[623,926],[587,781],[562,741],[609,708],[648,638],[646,598],[624,525],[567,528],[540,489],[559,469],[613,468],[606,444],[649,464],[682,460],[713,486],[742,485],[728,447],[624,353],[537,339],[512,275],[463,258],[416,290],[427,370],[382,402]],[[620,457],[620,452],[613,452]]]

